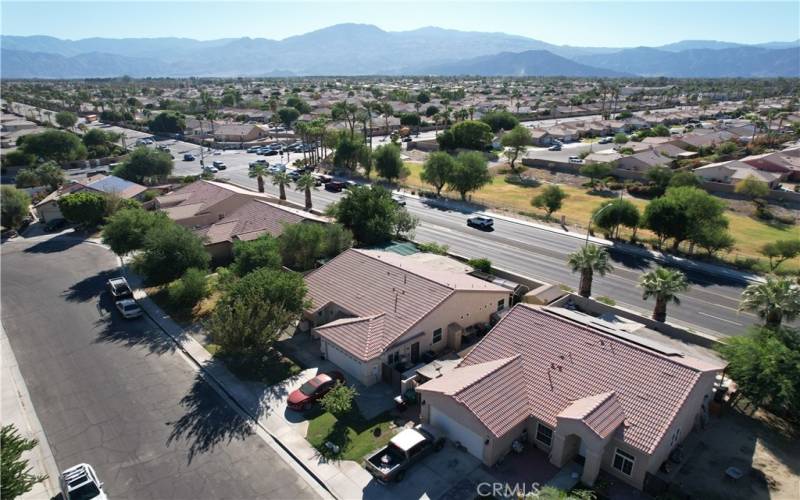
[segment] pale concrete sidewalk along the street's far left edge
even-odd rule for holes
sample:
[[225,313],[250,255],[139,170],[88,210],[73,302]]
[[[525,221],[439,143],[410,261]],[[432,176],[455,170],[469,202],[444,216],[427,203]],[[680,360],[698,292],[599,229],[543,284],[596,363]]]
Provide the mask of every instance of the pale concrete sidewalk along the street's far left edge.
[[47,437],[36,416],[36,411],[31,403],[28,388],[22,379],[19,365],[11,350],[6,332],[0,325],[0,355],[2,356],[2,423],[14,424],[19,434],[25,438],[35,438],[39,444],[33,450],[23,454],[28,459],[28,464],[34,474],[47,474],[48,478],[36,484],[31,491],[22,495],[25,499],[53,498],[59,494],[58,466],[56,466],[53,452],[47,443]]

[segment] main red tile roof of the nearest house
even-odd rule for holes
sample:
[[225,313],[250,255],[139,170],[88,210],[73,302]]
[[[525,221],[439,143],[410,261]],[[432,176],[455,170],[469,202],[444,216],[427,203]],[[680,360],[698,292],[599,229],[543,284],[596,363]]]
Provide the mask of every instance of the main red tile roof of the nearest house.
[[[575,401],[613,392],[626,422],[617,431],[620,438],[645,453],[652,452],[661,441],[698,382],[702,373],[699,367],[713,371],[722,368],[679,361],[547,309],[518,304],[459,368],[442,378],[458,376],[461,367],[517,355],[522,373],[512,375],[513,380],[493,380],[492,385],[499,388],[496,392],[554,427],[556,417]],[[521,389],[506,392],[509,384],[513,386],[523,379]],[[523,393],[527,397],[522,397]],[[606,425],[613,424],[619,413],[611,399],[585,413],[587,425],[605,432]],[[587,402],[583,404],[589,406]],[[490,410],[491,405],[473,413],[482,418],[483,412]],[[507,412],[505,420],[490,418],[482,422],[490,429],[510,428],[518,420],[519,411]]]

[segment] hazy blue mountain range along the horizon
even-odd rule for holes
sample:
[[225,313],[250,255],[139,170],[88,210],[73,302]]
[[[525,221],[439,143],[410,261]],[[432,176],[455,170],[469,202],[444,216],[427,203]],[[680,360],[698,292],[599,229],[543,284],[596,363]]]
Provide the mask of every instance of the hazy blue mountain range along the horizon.
[[0,37],[3,78],[480,75],[800,77],[800,40],[554,45],[506,33],[339,24],[283,40]]

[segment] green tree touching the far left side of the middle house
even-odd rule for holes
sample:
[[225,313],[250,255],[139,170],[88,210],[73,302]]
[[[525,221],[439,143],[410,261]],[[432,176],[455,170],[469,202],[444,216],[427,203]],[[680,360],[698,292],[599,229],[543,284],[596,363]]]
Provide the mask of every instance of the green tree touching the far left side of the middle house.
[[341,224],[287,224],[278,242],[283,265],[306,271],[350,248],[353,233]]

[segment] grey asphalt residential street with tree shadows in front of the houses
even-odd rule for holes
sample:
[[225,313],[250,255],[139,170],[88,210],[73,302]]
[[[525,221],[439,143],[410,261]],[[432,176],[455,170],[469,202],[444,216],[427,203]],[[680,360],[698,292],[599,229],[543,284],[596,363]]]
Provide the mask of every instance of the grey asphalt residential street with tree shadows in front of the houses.
[[316,498],[150,320],[104,291],[108,250],[69,233],[2,245],[2,321],[59,469],[109,498]]

